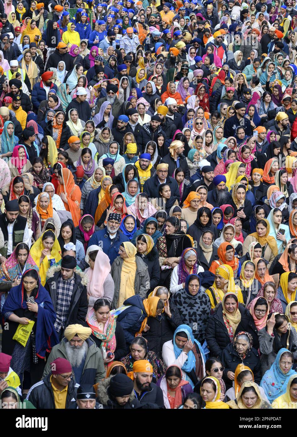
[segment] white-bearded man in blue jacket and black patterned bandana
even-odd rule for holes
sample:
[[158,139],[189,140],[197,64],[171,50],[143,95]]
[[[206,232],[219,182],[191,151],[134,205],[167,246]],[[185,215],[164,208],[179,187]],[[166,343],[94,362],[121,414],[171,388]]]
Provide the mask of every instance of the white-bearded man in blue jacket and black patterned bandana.
[[88,247],[92,246],[92,244],[101,247],[103,252],[109,257],[111,264],[118,256],[121,243],[129,241],[129,239],[119,231],[120,224],[121,215],[111,212],[107,218],[106,228],[95,232],[88,244]]

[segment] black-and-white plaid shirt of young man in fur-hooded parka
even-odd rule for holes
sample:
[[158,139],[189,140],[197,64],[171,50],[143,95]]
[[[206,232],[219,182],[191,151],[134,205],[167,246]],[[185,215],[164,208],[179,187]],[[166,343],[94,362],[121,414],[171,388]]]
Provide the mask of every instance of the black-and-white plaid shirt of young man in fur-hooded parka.
[[74,275],[70,279],[64,281],[62,276],[59,277],[57,286],[57,302],[56,302],[56,314],[57,319],[55,321],[55,330],[60,331],[64,328],[68,314],[75,284]]

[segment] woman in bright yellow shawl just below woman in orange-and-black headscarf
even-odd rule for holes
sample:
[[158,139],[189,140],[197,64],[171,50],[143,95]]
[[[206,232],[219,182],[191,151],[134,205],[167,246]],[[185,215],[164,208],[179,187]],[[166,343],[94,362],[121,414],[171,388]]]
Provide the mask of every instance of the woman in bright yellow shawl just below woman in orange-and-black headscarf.
[[213,285],[205,291],[211,301],[211,309],[222,302],[226,292],[234,293],[238,302],[243,304],[242,292],[240,287],[235,285],[233,270],[228,264],[222,264],[215,271]]

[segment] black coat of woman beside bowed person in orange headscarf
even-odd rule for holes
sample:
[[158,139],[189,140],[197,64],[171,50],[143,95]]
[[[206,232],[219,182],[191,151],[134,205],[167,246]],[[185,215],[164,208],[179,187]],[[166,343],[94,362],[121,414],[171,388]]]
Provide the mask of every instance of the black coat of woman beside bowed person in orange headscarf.
[[159,317],[148,317],[149,329],[147,332],[142,333],[145,340],[148,341],[148,350],[152,350],[161,358],[163,344],[166,341],[173,340],[174,331],[183,324],[179,310],[171,302],[170,312],[170,318],[165,312],[162,312]]

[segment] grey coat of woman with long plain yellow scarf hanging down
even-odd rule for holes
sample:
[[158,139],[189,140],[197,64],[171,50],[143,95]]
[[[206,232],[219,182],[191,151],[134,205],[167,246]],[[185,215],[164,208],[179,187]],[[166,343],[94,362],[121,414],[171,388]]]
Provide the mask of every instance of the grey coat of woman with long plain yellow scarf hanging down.
[[[140,295],[142,298],[145,298],[146,292],[150,288],[148,266],[139,257],[135,257],[135,260],[137,268],[135,273],[134,292],[135,295]],[[117,308],[117,301],[120,295],[123,262],[124,260],[121,257],[117,257],[111,265],[111,276],[114,280],[114,299],[112,302],[112,308]]]

